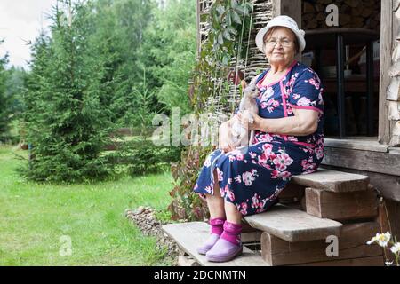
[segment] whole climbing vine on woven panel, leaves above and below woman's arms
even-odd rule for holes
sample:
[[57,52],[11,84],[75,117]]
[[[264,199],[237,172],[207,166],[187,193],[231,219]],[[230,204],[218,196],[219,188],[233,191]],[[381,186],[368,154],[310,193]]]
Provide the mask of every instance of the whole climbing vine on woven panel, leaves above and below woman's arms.
[[[216,96],[226,98],[231,91],[229,86],[243,79],[237,63],[248,54],[252,12],[249,0],[215,0],[212,4],[207,15],[209,32],[201,43],[189,90],[196,115],[212,111],[212,107],[204,109],[207,100]],[[204,159],[212,149],[212,146],[188,146],[182,152],[180,162],[172,165],[174,188],[170,193],[173,201],[169,209],[173,219],[207,218],[205,202],[193,188]]]

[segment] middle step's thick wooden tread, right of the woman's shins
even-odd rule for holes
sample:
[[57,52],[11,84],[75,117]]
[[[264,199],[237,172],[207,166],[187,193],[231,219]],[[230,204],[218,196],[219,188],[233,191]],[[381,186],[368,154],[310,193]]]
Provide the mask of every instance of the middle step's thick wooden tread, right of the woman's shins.
[[253,227],[291,242],[323,240],[332,234],[339,235],[341,227],[337,221],[310,216],[281,204],[244,218]]

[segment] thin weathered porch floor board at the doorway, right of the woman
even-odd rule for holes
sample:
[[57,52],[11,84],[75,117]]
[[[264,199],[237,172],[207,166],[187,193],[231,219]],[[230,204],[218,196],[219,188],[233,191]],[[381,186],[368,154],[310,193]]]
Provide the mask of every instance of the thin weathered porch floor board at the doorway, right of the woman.
[[324,146],[345,148],[345,149],[356,149],[366,150],[373,152],[388,152],[388,145],[380,144],[377,139],[340,139],[340,138],[324,138]]

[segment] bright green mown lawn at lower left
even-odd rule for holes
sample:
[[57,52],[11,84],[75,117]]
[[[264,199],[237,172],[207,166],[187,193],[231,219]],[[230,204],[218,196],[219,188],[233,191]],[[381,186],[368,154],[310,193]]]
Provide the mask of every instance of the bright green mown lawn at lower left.
[[[156,238],[144,237],[124,217],[140,205],[163,210],[170,203],[169,172],[124,177],[96,185],[28,183],[20,160],[0,146],[0,265],[171,265]],[[68,236],[72,255],[60,256]]]

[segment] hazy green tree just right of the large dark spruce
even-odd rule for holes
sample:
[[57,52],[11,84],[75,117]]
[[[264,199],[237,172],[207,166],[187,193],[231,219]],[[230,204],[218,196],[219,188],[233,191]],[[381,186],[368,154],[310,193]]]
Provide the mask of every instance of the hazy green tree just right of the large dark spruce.
[[[109,106],[110,119],[124,127],[131,127],[138,115],[135,90],[143,87],[143,72],[136,61],[153,6],[153,1],[142,0],[100,0],[95,4],[97,29],[93,44],[106,60],[102,80],[108,91],[102,102]],[[156,109],[156,100],[149,106]]]

